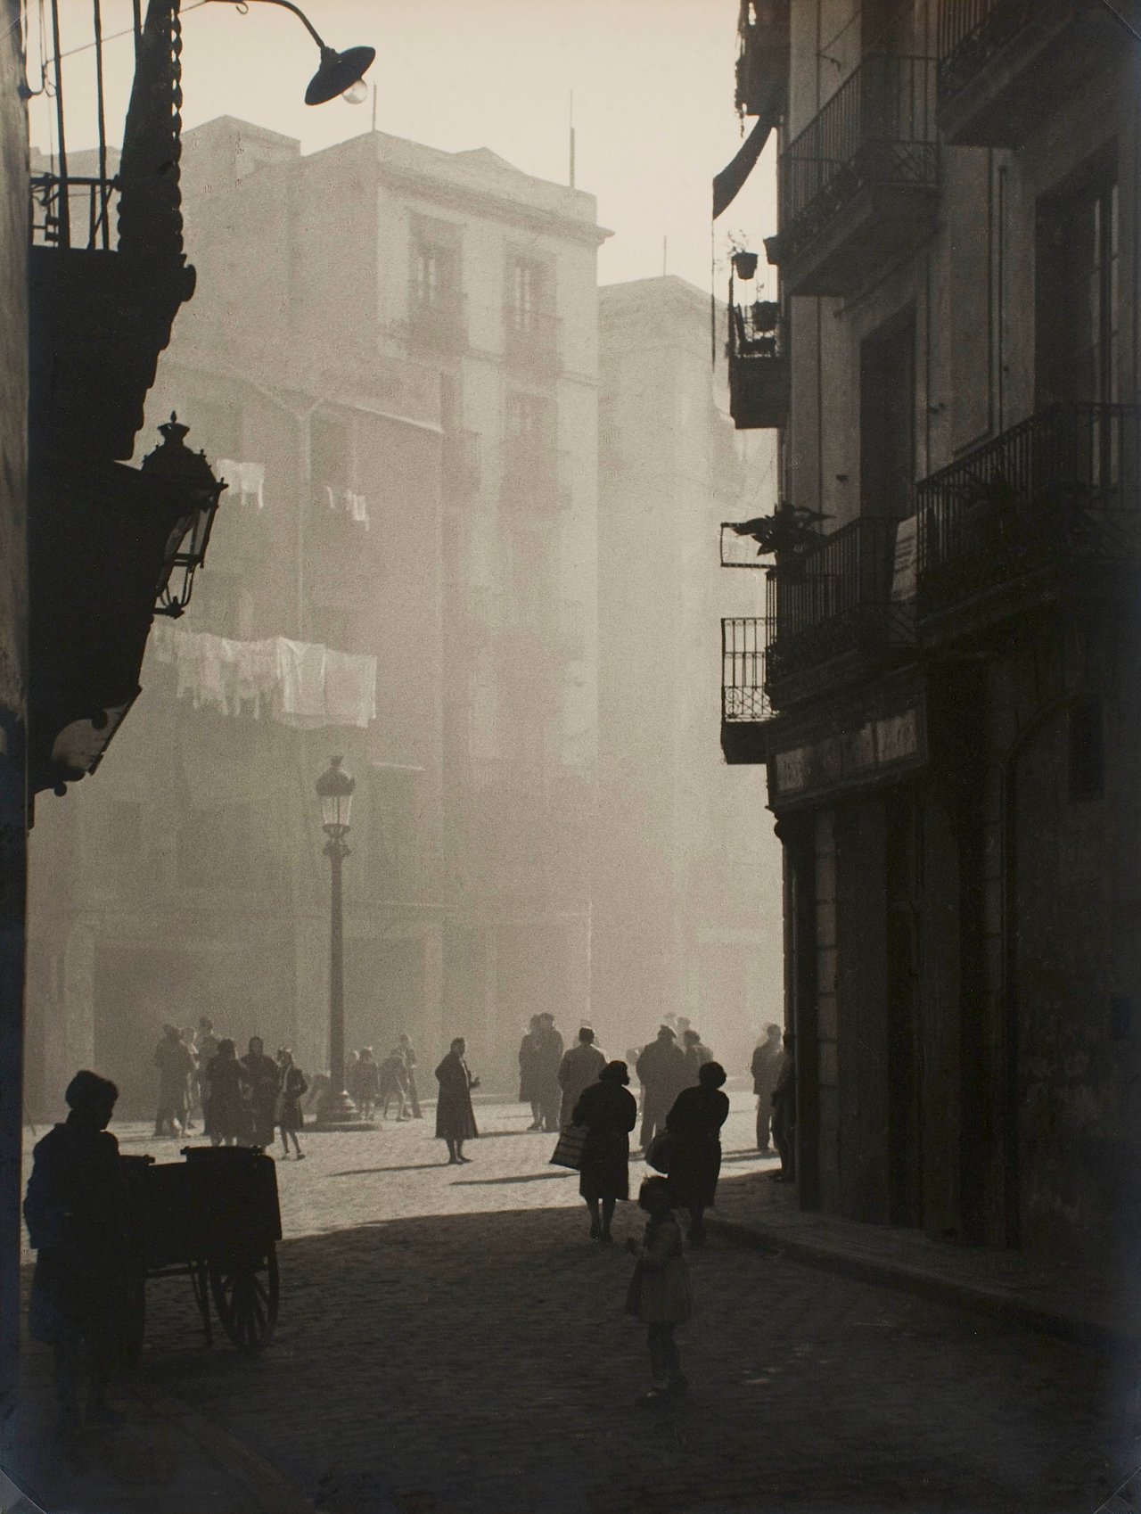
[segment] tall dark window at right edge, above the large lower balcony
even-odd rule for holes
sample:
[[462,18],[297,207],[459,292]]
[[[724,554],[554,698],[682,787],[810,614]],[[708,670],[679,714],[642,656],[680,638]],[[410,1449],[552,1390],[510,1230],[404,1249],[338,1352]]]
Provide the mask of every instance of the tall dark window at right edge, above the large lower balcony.
[[1102,154],[1038,204],[1037,401],[1117,398],[1120,207]]

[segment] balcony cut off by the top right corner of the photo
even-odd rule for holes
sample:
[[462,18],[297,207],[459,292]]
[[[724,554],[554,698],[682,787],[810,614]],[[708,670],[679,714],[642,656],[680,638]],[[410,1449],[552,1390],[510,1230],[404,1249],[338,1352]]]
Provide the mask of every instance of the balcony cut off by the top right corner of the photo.
[[938,124],[959,147],[1021,147],[1130,45],[1090,0],[943,0]]

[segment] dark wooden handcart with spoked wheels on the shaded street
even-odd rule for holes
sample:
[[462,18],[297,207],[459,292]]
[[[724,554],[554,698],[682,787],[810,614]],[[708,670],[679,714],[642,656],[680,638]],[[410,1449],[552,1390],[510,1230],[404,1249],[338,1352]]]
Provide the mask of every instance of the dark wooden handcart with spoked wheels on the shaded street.
[[[213,1299],[238,1350],[256,1355],[277,1325],[277,1169],[250,1146],[183,1146],[182,1155],[180,1163],[120,1158],[139,1273],[147,1279],[189,1276],[206,1344],[213,1344]],[[142,1296],[139,1288],[139,1344]]]

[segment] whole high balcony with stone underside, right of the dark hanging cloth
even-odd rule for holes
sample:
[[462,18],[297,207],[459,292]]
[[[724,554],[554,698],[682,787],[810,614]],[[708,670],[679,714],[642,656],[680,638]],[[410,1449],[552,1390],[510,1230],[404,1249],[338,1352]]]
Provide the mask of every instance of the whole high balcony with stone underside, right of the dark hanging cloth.
[[781,154],[787,292],[853,294],[931,233],[937,189],[935,62],[873,53]]

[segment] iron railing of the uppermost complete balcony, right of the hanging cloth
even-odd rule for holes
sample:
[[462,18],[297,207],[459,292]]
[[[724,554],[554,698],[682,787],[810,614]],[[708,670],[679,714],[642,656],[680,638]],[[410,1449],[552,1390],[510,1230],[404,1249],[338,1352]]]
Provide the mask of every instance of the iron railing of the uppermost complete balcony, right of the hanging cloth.
[[870,53],[781,154],[782,259],[861,189],[937,182],[935,61]]

